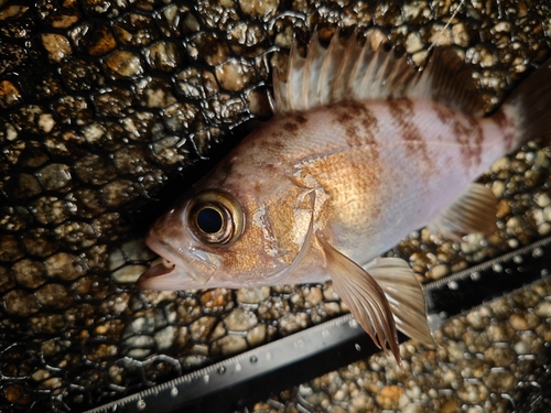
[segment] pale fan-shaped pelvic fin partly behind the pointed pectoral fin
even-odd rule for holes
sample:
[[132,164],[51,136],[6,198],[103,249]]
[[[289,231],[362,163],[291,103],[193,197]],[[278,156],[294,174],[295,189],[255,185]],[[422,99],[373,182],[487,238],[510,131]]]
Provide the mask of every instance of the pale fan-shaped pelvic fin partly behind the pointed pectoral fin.
[[423,290],[408,263],[399,258],[378,258],[367,271],[387,295],[398,329],[424,345],[434,346]]

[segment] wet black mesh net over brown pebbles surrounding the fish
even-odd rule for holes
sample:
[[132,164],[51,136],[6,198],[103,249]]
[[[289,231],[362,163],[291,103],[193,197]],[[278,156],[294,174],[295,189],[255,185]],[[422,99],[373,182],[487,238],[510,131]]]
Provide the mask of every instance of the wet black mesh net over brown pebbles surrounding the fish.
[[[133,284],[154,218],[270,116],[270,64],[293,33],[336,26],[414,64],[453,44],[488,110],[551,45],[545,1],[0,0],[0,411],[98,406],[343,313],[331,284]],[[549,235],[550,162],[542,138],[482,178],[495,236],[420,230],[390,254],[431,280]],[[376,356],[253,409],[543,411],[520,401],[549,400],[550,296],[533,287],[453,322],[436,352],[404,345],[403,371]]]

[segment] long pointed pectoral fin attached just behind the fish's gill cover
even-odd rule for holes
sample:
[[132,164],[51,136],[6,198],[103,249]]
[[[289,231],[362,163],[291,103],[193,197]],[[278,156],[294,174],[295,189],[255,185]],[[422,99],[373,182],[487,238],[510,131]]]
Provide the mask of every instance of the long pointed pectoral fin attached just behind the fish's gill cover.
[[341,298],[375,344],[386,354],[390,350],[401,363],[396,324],[382,289],[361,267],[338,252],[321,231],[316,231],[316,238]]

